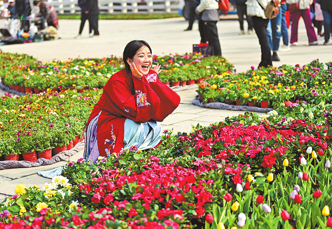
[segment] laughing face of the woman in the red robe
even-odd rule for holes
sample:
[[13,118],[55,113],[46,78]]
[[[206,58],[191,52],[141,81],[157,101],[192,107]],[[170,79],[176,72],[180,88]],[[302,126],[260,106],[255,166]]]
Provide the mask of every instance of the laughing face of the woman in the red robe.
[[138,72],[140,72],[143,75],[147,75],[150,71],[151,65],[152,65],[152,55],[150,53],[150,50],[148,47],[143,45],[134,55],[133,59],[130,60],[127,59],[128,63],[130,64],[130,61],[132,61]]

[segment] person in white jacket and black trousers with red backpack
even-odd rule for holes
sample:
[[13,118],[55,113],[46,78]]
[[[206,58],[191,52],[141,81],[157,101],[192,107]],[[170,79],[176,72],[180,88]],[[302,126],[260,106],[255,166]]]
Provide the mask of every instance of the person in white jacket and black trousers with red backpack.
[[214,55],[221,56],[221,48],[218,37],[217,21],[219,21],[218,2],[216,0],[201,0],[196,7],[196,13],[200,14],[198,21],[201,42],[209,42],[213,47]]

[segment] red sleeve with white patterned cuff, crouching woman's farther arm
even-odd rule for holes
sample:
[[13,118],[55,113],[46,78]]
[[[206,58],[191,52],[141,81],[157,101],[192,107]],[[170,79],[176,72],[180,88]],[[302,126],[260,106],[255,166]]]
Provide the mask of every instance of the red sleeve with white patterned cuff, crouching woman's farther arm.
[[154,71],[150,71],[146,77],[142,78],[142,81],[146,82],[155,91],[160,100],[160,106],[156,110],[152,120],[161,122],[178,107],[180,96],[169,86],[161,82]]

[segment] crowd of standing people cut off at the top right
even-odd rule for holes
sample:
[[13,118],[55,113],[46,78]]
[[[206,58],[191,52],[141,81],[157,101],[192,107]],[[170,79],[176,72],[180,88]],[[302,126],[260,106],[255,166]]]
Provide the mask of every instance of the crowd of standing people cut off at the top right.
[[[280,61],[277,52],[291,51],[291,45],[298,45],[298,26],[300,17],[303,18],[309,45],[317,45],[317,35],[324,36],[324,45],[329,43],[332,32],[332,0],[275,0],[279,13],[273,19],[265,16],[264,9],[271,0],[235,0],[239,35],[244,35],[244,16],[248,29],[247,34],[254,30],[261,47],[261,62],[259,66],[272,66],[272,61]],[[219,20],[218,2],[216,0],[187,0],[190,6],[189,27],[192,30],[193,22],[198,17],[198,27],[201,36],[199,45],[210,45],[214,55],[221,55],[220,42],[216,23]],[[196,12],[196,14],[195,14]],[[324,26],[324,33],[322,33]],[[291,36],[288,28],[291,27]],[[317,35],[314,27],[317,28]],[[280,39],[282,38],[282,46]]]

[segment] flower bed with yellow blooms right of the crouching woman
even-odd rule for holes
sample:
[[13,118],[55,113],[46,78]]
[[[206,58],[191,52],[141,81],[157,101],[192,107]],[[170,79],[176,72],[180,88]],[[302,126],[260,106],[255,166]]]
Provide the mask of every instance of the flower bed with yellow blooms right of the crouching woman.
[[197,90],[203,103],[278,108],[296,100],[311,104],[332,101],[332,62],[315,60],[307,65],[261,68],[241,74],[223,73],[206,79]]

